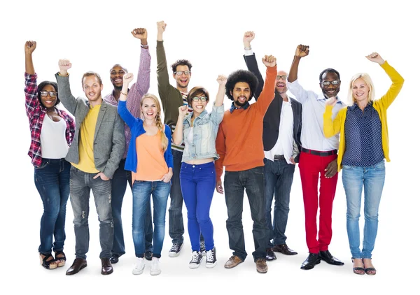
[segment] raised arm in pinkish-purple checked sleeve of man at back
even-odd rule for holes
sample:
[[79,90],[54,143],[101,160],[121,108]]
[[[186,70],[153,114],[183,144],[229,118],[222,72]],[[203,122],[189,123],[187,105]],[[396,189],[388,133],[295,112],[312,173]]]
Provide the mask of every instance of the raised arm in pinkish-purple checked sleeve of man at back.
[[148,92],[148,89],[151,86],[151,55],[148,50],[147,30],[144,28],[137,28],[132,30],[131,33],[134,38],[140,40],[141,49],[137,82],[133,85],[127,97],[127,108],[134,117],[139,117],[141,97]]

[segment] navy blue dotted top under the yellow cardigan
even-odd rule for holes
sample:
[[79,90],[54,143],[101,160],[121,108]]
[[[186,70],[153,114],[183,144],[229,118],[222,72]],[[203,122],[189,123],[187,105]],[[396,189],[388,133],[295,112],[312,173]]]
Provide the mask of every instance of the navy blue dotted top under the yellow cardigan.
[[369,167],[383,161],[381,120],[372,103],[367,103],[364,110],[357,103],[347,108],[344,134],[343,165]]

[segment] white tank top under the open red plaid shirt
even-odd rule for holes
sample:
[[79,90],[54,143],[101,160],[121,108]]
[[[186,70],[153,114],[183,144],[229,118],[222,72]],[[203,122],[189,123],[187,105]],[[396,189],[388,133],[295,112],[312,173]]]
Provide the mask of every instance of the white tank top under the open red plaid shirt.
[[41,129],[41,157],[62,159],[69,151],[66,141],[66,122],[64,119],[54,122],[45,114]]

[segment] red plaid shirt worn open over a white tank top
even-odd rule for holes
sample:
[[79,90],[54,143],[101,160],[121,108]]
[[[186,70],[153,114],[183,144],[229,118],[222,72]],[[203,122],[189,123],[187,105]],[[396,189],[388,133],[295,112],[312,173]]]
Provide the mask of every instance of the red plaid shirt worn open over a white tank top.
[[[29,157],[35,167],[41,166],[41,128],[42,122],[47,113],[45,108],[38,101],[38,86],[36,85],[36,73],[30,75],[25,73],[25,106],[29,118],[29,129],[31,129],[31,147],[29,147]],[[74,136],[74,120],[64,110],[55,108],[57,113],[66,121],[66,141],[70,145]]]

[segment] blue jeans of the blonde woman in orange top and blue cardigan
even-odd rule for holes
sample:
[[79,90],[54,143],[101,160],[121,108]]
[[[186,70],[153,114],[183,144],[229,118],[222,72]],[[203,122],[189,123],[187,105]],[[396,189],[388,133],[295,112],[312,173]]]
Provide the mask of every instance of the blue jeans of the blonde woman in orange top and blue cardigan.
[[144,257],[146,211],[153,198],[153,257],[160,258],[165,238],[165,215],[170,182],[135,180],[133,184],[133,241],[136,257]]

